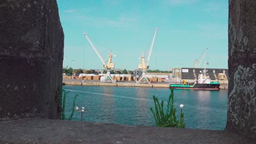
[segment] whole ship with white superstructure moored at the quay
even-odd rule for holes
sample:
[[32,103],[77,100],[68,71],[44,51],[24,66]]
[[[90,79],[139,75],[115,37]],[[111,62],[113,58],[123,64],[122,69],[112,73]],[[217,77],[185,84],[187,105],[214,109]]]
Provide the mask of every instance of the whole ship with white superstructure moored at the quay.
[[194,83],[186,83],[183,80],[183,85],[171,84],[169,88],[175,89],[198,89],[198,90],[219,90],[220,83],[211,81],[210,77],[206,74],[206,68],[200,71],[198,79]]

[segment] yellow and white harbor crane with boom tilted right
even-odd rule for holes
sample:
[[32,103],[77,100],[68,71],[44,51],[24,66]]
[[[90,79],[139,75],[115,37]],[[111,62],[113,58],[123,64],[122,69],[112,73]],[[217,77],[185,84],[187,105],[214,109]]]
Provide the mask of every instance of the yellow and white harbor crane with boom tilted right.
[[141,63],[138,65],[138,69],[142,70],[142,76],[141,78],[137,81],[138,83],[149,83],[147,77],[146,77],[146,70],[149,69],[149,60],[150,60],[150,56],[152,53],[152,49],[153,49],[153,45],[154,45],[154,41],[155,41],[155,35],[156,32],[158,31],[158,28],[155,28],[155,32],[154,32],[154,36],[153,36],[153,40],[150,46],[150,50],[148,53],[148,59],[147,61],[145,61],[145,53],[143,52],[141,57],[139,57],[141,59]]

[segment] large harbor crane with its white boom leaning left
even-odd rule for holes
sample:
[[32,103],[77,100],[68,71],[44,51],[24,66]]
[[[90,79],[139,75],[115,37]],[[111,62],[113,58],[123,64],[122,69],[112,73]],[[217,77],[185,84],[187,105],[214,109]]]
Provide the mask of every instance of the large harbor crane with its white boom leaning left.
[[91,44],[94,51],[97,53],[98,57],[101,59],[101,62],[103,64],[103,67],[107,69],[107,74],[103,79],[103,82],[114,82],[112,77],[110,76],[110,69],[115,68],[115,64],[112,63],[112,57],[117,57],[111,53],[111,49],[108,52],[108,63],[106,64],[106,61],[103,61],[103,58],[101,57],[100,53],[98,53],[97,49],[95,48],[94,44],[92,44],[91,40],[89,39],[88,35],[84,33],[84,36],[88,39],[89,43]]

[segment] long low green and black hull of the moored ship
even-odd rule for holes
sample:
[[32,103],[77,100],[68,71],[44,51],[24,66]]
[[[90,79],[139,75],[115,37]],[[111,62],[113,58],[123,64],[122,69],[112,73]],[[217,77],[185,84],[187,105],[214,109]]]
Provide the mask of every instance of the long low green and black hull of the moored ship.
[[186,85],[170,85],[169,88],[174,89],[196,89],[196,90],[219,90],[219,84],[206,84],[206,83],[196,83],[193,86],[186,86]]

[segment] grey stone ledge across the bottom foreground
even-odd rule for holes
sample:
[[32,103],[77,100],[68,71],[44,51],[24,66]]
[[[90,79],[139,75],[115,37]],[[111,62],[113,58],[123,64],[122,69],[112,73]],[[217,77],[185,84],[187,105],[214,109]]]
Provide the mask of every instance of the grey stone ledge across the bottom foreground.
[[[28,118],[0,123],[0,143],[250,143],[230,131]],[[252,143],[252,141],[251,141]]]

